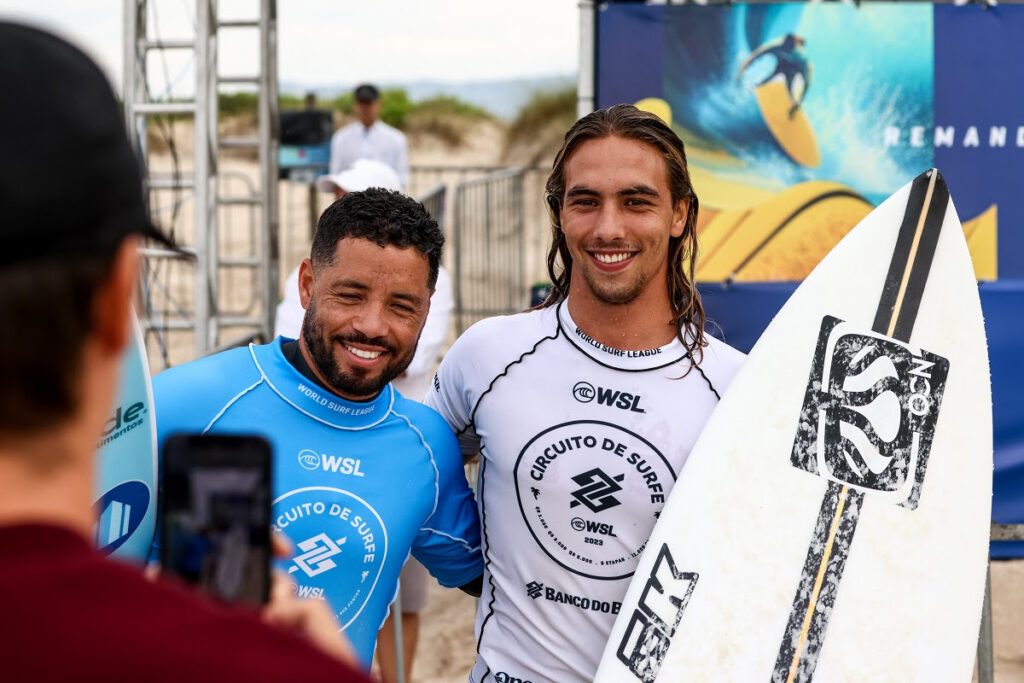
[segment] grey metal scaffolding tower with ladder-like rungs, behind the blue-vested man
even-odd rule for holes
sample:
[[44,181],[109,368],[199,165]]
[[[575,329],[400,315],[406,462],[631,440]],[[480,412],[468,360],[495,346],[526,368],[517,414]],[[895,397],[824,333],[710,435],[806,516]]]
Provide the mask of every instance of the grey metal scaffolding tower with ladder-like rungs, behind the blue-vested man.
[[[147,275],[141,288],[139,315],[147,343],[156,337],[163,365],[168,366],[250,340],[267,340],[273,331],[279,263],[276,0],[254,0],[257,16],[230,20],[218,14],[217,0],[196,0],[190,22],[195,35],[168,40],[160,37],[157,2],[125,0],[123,93],[125,122],[143,168],[151,168],[151,123],[166,127],[168,122],[190,119],[195,129],[190,171],[179,168],[176,141],[170,135],[171,173],[146,172],[143,181],[151,208],[155,197],[172,194],[170,228],[183,252],[143,251]],[[221,75],[217,46],[225,32],[257,32],[256,75]],[[157,96],[152,94],[155,78],[148,72],[151,57],[161,59],[169,51],[190,58],[195,72],[190,99],[173,97],[171,85]],[[166,61],[164,67],[166,76]],[[258,94],[255,135],[221,136],[219,96],[225,90],[239,89],[255,89]],[[221,170],[222,153],[246,148],[257,152],[257,181],[242,177],[245,191],[225,195],[228,186],[240,184],[243,174]],[[234,179],[228,182],[231,176]],[[179,229],[173,224],[181,217],[177,207],[189,200],[194,203],[191,225]],[[218,222],[225,217],[237,221],[240,215],[248,223],[248,231],[241,239],[225,239]],[[158,222],[163,222],[159,218]],[[240,248],[240,244],[244,246]],[[244,288],[237,287],[240,272],[248,278]],[[247,290],[246,303],[238,304],[241,297],[229,291],[233,289]],[[170,335],[193,337],[186,357],[173,358],[168,352]],[[180,349],[181,344],[177,346]]]

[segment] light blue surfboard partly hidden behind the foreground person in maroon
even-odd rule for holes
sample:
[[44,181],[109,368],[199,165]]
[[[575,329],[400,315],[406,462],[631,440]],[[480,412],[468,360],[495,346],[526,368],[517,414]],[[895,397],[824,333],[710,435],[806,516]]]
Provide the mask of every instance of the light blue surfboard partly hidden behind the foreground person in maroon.
[[95,543],[106,555],[144,562],[157,518],[157,426],[150,361],[134,317],[132,330],[117,400],[99,439]]

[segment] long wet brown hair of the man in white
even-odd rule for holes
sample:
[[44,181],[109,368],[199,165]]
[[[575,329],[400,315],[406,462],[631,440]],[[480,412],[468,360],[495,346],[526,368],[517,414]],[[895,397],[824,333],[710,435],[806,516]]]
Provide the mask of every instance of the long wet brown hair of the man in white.
[[541,307],[553,306],[568,296],[572,278],[572,256],[565,244],[561,224],[561,205],[565,197],[565,165],[577,148],[588,140],[618,136],[651,145],[662,153],[669,171],[669,190],[673,206],[689,198],[689,211],[683,233],[669,239],[669,301],[672,304],[672,322],[676,337],[682,342],[690,357],[699,364],[705,337],[705,311],[700,295],[694,284],[697,258],[697,197],[693,193],[690,173],[686,167],[683,141],[662,119],[632,104],[615,104],[583,117],[565,133],[562,148],[545,186],[548,213],[551,216],[551,249],[548,251],[548,274],[553,288]]

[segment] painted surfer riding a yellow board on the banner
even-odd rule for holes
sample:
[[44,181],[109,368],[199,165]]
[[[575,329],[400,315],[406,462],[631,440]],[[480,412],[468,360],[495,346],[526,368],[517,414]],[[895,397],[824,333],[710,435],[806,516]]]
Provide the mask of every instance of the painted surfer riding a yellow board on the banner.
[[801,49],[804,39],[792,33],[754,50],[739,67],[736,78],[742,77],[755,61],[771,56],[775,69],[755,87],[758,108],[765,125],[779,146],[793,161],[816,168],[821,165],[821,153],[811,123],[801,109],[811,86],[811,62]]

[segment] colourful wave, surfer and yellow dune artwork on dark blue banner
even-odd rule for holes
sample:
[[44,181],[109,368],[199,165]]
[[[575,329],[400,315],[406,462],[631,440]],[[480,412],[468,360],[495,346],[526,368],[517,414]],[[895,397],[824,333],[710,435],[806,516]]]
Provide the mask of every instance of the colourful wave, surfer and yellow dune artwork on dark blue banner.
[[[802,281],[895,188],[933,165],[925,124],[934,45],[914,33],[930,9],[693,9],[659,10],[658,82],[632,87],[629,96],[686,143],[700,198],[696,279]],[[847,29],[857,32],[855,45],[842,40]],[[924,135],[920,146],[908,141],[911,130]],[[998,275],[1005,211],[975,202],[963,221],[979,281]]]

